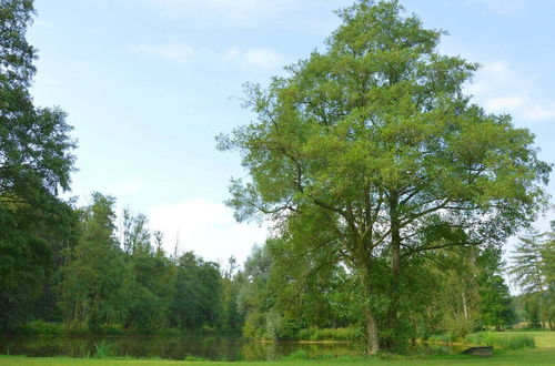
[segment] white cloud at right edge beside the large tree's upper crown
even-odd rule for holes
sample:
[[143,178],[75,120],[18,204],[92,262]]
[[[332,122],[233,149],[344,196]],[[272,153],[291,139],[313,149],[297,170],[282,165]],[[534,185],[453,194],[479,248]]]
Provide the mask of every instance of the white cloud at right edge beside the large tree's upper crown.
[[555,100],[537,91],[533,78],[518,75],[505,62],[487,62],[465,91],[492,113],[509,113],[516,119],[541,121],[555,118]]

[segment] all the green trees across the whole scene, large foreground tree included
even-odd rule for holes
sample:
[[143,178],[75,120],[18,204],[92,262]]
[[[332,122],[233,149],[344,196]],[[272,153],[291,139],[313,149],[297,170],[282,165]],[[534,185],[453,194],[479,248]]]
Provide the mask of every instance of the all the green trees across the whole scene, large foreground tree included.
[[168,253],[109,193],[63,199],[78,142],[61,108],[33,103],[33,2],[0,0],[0,333],[221,332],[375,354],[555,331],[555,222],[533,228],[552,165],[532,132],[474,104],[462,85],[477,65],[438,53],[442,31],[397,1],[339,14],[325,50],[246,84],[255,119],[216,138],[249,173],[228,205],[272,234],[214,263]]

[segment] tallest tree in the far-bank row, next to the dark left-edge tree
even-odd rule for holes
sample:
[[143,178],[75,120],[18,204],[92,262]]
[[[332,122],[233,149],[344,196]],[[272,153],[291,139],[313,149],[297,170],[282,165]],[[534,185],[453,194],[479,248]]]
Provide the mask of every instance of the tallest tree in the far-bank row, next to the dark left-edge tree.
[[67,323],[87,324],[93,332],[124,318],[125,273],[114,235],[114,199],[92,194],[92,204],[80,212],[81,235],[62,268],[60,306]]

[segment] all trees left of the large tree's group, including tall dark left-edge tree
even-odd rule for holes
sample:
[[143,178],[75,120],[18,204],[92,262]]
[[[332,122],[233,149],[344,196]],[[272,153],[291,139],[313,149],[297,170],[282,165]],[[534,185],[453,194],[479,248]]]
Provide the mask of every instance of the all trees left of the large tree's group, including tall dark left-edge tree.
[[125,212],[119,237],[112,197],[93,194],[85,207],[60,199],[77,142],[62,110],[33,103],[33,16],[32,0],[0,0],[0,333],[31,321],[238,329],[231,273],[193,253],[168,256],[143,215]]

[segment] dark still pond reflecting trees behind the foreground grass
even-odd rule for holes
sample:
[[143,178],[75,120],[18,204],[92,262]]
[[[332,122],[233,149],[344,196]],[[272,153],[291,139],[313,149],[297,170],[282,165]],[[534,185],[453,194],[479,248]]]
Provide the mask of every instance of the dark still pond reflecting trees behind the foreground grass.
[[[184,359],[194,356],[211,360],[272,360],[300,350],[310,358],[363,354],[360,345],[350,343],[258,343],[230,335],[0,337],[0,354],[31,357],[93,357],[98,352],[104,352],[110,356],[151,358]],[[425,354],[458,352],[446,345],[412,349],[412,353]]]

